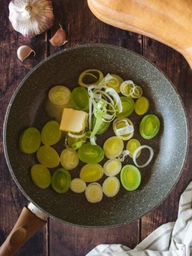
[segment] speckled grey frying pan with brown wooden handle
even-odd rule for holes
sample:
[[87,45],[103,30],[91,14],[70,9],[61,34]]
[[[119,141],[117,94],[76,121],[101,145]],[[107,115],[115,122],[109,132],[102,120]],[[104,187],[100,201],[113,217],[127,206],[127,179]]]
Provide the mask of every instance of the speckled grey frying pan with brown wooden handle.
[[[37,188],[30,179],[30,167],[37,163],[36,154],[23,154],[18,148],[18,138],[23,129],[35,126],[41,130],[50,120],[44,111],[44,102],[50,88],[65,85],[72,90],[78,86],[79,74],[89,68],[98,68],[105,75],[118,74],[124,80],[131,79],[142,86],[143,95],[150,102],[149,114],[156,114],[161,120],[161,130],[156,138],[145,140],[138,132],[142,116],[130,115],[135,124],[134,138],[138,138],[141,145],[153,147],[155,151],[153,162],[140,169],[142,182],[139,189],[128,192],[121,187],[117,196],[103,197],[97,204],[90,204],[84,195],[70,190],[65,194],[57,194],[51,187]],[[107,134],[98,136],[97,142],[102,146],[113,135],[110,127]],[[63,141],[55,149],[60,153]],[[48,215],[71,225],[102,228],[130,223],[154,209],[170,193],[185,165],[188,122],[178,92],[153,63],[121,47],[82,45],[53,54],[31,70],[20,83],[5,117],[4,150],[13,179],[33,203],[29,206],[33,213],[27,208],[23,209],[11,234],[0,248],[0,254],[5,253],[1,255],[12,255],[46,223]],[[147,157],[145,151],[142,157]],[[126,159],[124,164],[127,163],[132,163],[131,158]],[[72,178],[79,176],[82,166],[83,163],[76,170],[70,171]],[[51,173],[54,170],[50,169]]]

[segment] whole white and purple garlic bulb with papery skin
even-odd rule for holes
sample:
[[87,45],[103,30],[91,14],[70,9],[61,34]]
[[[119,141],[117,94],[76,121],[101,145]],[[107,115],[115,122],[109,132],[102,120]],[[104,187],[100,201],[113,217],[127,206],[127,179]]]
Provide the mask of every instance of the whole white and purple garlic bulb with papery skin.
[[53,26],[51,0],[12,0],[9,10],[13,28],[23,36],[31,38]]

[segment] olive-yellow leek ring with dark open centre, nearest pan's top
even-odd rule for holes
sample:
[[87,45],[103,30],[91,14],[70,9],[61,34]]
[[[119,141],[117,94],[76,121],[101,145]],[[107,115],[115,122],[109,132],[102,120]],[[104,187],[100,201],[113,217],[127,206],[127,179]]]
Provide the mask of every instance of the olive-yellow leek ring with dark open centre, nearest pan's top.
[[[95,75],[97,74],[97,75]],[[91,81],[85,82],[85,78],[90,79]],[[103,79],[103,74],[98,69],[87,69],[83,71],[78,78],[78,84],[82,87],[88,87],[91,85],[97,85],[99,84]]]

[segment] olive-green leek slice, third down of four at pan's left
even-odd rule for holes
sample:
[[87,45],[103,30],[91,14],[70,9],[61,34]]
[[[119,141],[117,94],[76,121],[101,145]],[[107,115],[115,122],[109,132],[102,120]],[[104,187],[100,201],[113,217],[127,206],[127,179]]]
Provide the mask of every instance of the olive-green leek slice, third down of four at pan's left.
[[37,150],[37,159],[39,163],[50,168],[56,167],[60,163],[57,151],[50,146],[41,146]]

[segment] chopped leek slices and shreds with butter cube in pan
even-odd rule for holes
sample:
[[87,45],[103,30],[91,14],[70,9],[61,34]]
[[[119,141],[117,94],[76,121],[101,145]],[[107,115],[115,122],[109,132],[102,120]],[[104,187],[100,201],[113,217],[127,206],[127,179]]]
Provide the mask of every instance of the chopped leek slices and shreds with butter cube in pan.
[[[23,130],[19,148],[22,153],[36,153],[38,163],[31,167],[30,175],[38,188],[51,185],[57,193],[70,188],[68,193],[84,193],[88,202],[98,203],[103,194],[116,196],[121,185],[127,191],[139,187],[138,167],[148,166],[154,150],[133,136],[136,133],[143,139],[153,139],[160,121],[156,115],[145,115],[149,100],[143,96],[142,87],[131,80],[87,69],[79,75],[78,84],[73,91],[64,85],[50,89],[45,110],[53,119],[47,120],[41,131],[36,127]],[[100,138],[105,135],[108,139],[101,144]],[[63,145],[59,152],[58,143],[60,148]],[[149,150],[149,157],[143,149]],[[127,164],[130,161],[134,165]],[[58,169],[50,170],[54,167]]]

